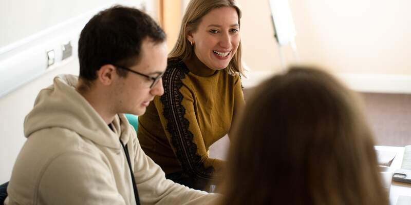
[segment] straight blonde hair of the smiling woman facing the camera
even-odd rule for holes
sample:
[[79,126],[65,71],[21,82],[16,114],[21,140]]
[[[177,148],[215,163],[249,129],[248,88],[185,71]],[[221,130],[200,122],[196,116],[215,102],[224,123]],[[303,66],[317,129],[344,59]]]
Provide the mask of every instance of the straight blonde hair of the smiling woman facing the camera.
[[[191,0],[183,16],[180,33],[173,50],[169,54],[169,59],[185,60],[194,55],[194,47],[190,45],[187,39],[189,32],[195,32],[201,23],[201,18],[211,10],[221,7],[232,7],[237,11],[238,25],[240,25],[241,10],[234,0]],[[241,65],[241,41],[238,45],[237,52],[231,59],[228,67],[228,73],[234,75],[241,73],[244,75],[244,68]]]

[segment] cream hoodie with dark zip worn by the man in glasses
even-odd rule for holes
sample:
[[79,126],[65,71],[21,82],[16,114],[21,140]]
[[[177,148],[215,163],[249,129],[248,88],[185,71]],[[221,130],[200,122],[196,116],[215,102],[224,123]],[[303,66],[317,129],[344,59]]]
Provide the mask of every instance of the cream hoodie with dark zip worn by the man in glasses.
[[[111,130],[76,90],[77,77],[61,75],[43,89],[26,116],[5,204],[135,204],[119,138],[128,147],[141,204],[215,204],[217,194],[167,180],[142,151],[123,114]],[[160,125],[159,125],[160,126]]]

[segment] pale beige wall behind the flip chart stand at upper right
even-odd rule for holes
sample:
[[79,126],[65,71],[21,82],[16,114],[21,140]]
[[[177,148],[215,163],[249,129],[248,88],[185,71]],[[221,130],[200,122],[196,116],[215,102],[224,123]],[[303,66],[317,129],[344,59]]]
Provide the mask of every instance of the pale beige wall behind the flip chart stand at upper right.
[[[280,67],[265,0],[237,0],[243,12],[246,64],[256,71]],[[411,75],[409,0],[289,0],[301,63],[333,73]],[[291,49],[283,48],[292,63]]]

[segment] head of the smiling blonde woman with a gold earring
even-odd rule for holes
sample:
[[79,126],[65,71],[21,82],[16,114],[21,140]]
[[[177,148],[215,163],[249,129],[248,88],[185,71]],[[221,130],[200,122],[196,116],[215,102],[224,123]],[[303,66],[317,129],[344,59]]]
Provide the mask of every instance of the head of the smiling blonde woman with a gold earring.
[[210,69],[242,73],[240,18],[234,0],[191,0],[169,58],[186,60],[195,55]]

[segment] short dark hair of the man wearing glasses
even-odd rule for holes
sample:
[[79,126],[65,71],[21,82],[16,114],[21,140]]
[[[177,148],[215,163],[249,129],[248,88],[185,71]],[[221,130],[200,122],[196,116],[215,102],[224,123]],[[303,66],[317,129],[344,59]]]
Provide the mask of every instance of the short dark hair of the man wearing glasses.
[[[130,7],[114,6],[93,16],[79,39],[80,78],[86,84],[97,78],[96,71],[106,64],[136,65],[141,44],[149,38],[163,43],[165,33],[152,17]],[[125,70],[116,70],[126,76]]]

